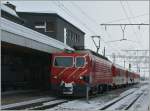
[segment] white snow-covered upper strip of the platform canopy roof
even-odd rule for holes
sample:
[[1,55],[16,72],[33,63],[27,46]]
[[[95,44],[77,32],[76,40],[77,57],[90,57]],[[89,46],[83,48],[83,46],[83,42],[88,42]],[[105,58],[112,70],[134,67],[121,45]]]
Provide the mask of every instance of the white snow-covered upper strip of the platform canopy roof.
[[46,45],[49,45],[50,47],[54,47],[57,49],[69,49],[69,50],[74,50],[71,47],[69,47],[68,45],[65,45],[64,43],[55,40],[51,37],[48,37],[44,34],[41,34],[39,32],[36,32],[32,29],[29,29],[27,27],[24,27],[20,24],[14,23],[12,21],[9,21],[5,18],[0,18],[0,22],[1,22],[1,30],[7,31],[7,32],[11,32],[13,34],[17,34],[28,38],[28,39],[32,39],[34,41],[38,41],[41,43],[44,43]]

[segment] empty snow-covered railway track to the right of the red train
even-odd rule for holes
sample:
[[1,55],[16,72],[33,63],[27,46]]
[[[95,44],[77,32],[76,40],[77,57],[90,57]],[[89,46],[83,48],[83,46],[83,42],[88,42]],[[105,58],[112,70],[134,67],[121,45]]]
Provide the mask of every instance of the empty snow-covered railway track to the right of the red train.
[[133,91],[131,93],[128,93],[112,102],[109,104],[103,106],[100,108],[100,110],[128,110],[130,109],[134,103],[144,94],[145,90],[142,90],[138,93],[136,91]]

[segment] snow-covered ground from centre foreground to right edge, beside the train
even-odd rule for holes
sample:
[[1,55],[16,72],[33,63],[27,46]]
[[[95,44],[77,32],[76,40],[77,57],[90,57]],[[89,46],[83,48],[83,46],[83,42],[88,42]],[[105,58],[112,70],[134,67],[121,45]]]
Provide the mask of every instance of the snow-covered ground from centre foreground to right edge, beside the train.
[[[118,107],[123,109],[124,105],[128,105],[135,100],[140,94],[141,96],[136,100],[134,104],[129,108],[129,110],[138,110],[138,111],[147,111],[148,110],[148,84],[144,85],[135,85],[129,89],[116,89],[105,94],[98,95],[97,97],[91,98],[89,103],[86,102],[85,99],[79,99],[74,101],[69,101],[67,103],[58,105],[50,111],[53,110],[63,110],[63,111],[99,111],[102,107],[110,104],[117,99],[124,97],[124,99],[120,99],[120,102],[116,102],[115,105],[109,107],[108,110],[116,110]],[[131,101],[130,101],[131,100]],[[129,102],[130,101],[130,102]],[[127,104],[128,103],[128,104]],[[126,106],[127,107],[127,106]],[[107,109],[106,109],[107,110]],[[120,109],[121,110],[121,109]]]

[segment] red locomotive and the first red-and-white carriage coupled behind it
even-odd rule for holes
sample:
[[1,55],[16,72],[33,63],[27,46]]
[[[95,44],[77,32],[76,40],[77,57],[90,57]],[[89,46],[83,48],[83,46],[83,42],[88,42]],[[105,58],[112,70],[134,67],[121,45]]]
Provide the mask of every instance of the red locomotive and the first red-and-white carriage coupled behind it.
[[90,50],[63,51],[52,55],[51,87],[55,92],[84,96],[127,84],[127,71]]

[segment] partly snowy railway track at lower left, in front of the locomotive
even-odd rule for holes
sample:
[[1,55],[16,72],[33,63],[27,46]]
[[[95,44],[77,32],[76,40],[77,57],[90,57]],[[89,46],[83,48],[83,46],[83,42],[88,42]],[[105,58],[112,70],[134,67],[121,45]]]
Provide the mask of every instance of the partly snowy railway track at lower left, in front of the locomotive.
[[64,102],[68,102],[69,100],[58,99],[54,97],[44,97],[30,101],[24,101],[14,104],[2,105],[2,110],[43,110],[55,107]]

